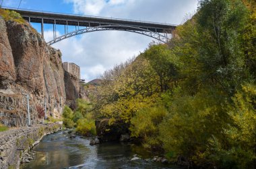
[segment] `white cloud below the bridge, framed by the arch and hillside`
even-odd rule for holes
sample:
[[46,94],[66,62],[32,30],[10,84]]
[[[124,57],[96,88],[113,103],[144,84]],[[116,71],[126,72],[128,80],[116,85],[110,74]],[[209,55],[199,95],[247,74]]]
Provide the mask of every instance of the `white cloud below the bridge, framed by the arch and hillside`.
[[[57,32],[57,36],[60,36]],[[53,38],[53,32],[46,30],[46,42]],[[136,41],[134,39],[140,39]],[[90,81],[99,77],[114,65],[138,55],[148,46],[151,38],[131,32],[102,31],[67,38],[53,44],[63,53],[63,61],[73,62],[81,68],[82,78]]]

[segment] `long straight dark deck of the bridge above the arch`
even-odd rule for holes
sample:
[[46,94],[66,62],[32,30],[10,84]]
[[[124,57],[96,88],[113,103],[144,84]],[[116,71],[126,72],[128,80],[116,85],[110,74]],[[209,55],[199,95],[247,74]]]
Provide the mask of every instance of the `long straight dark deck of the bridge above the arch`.
[[142,28],[158,33],[170,33],[169,30],[173,30],[176,25],[162,24],[156,22],[141,22],[136,20],[122,20],[117,18],[104,18],[95,17],[89,15],[71,15],[65,13],[51,13],[46,11],[30,11],[24,9],[5,8],[13,11],[17,11],[22,15],[25,20],[34,23],[43,24],[59,24],[68,26],[84,26],[84,27],[96,27],[96,26],[111,26],[121,25],[129,26],[133,28]]

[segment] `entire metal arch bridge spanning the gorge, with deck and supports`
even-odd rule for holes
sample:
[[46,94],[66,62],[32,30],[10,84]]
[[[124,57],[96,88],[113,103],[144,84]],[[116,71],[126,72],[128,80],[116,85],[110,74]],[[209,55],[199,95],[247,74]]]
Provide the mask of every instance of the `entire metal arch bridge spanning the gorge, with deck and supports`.
[[[41,34],[44,37],[44,24],[53,24],[53,40],[47,44],[54,44],[65,38],[102,30],[122,30],[143,34],[166,43],[170,39],[172,31],[176,28],[174,24],[162,24],[158,22],[142,22],[137,20],[123,20],[118,18],[104,18],[90,15],[73,15],[66,13],[52,13],[48,11],[32,11],[28,9],[16,9],[2,7],[16,11],[29,23],[40,23]],[[65,34],[57,37],[56,25],[65,26]],[[75,31],[69,32],[68,26],[75,26]]]

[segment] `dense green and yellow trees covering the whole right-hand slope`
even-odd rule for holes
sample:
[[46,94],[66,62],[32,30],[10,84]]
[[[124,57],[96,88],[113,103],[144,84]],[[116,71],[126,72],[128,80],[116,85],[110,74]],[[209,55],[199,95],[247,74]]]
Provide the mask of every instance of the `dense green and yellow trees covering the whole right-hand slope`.
[[106,71],[94,113],[130,124],[169,160],[253,168],[256,160],[255,1],[199,1],[168,44]]

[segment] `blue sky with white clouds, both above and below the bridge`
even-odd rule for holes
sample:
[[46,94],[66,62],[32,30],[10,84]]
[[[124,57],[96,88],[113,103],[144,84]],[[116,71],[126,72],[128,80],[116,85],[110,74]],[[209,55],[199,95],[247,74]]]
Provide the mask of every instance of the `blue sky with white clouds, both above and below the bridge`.
[[[181,24],[197,10],[197,0],[0,0],[3,6],[38,11],[96,15],[110,18]],[[40,24],[32,24],[40,32]],[[69,27],[69,31],[74,30]],[[64,27],[57,26],[57,36]],[[44,24],[44,39],[53,40],[53,25]],[[82,79],[96,79],[139,53],[152,38],[123,31],[99,31],[73,36],[53,44],[62,53],[62,60],[75,63]]]

